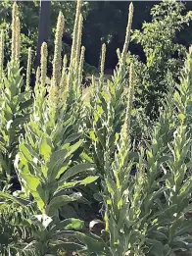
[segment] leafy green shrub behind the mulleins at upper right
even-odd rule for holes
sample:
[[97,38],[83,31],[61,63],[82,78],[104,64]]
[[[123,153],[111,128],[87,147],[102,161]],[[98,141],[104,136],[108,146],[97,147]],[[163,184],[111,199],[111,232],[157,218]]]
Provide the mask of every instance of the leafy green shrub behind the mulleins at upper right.
[[168,90],[167,74],[177,81],[186,49],[175,42],[183,26],[189,25],[191,12],[183,14],[184,6],[176,1],[163,1],[151,9],[152,22],[142,30],[134,30],[131,39],[142,46],[146,63],[135,59],[137,67],[137,104],[144,107],[150,118],[156,118]]

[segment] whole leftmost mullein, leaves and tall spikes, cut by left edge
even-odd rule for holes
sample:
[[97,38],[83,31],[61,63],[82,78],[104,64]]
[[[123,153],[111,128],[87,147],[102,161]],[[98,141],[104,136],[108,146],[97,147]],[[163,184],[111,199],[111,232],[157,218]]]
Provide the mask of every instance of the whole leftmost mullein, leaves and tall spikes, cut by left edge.
[[19,135],[24,131],[31,104],[30,90],[24,90],[24,78],[20,70],[20,19],[17,3],[12,13],[12,56],[7,71],[4,69],[4,31],[0,37],[0,176],[1,189],[4,180],[10,182],[15,175],[15,159]]

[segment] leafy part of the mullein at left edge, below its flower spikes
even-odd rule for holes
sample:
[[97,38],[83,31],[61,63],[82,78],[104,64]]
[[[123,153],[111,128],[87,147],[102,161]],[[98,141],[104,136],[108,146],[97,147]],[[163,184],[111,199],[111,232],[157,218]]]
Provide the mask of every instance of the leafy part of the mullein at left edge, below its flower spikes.
[[[31,104],[30,91],[24,91],[24,80],[20,70],[8,64],[7,73],[1,77],[0,113],[0,176],[1,182],[9,181],[14,175],[13,161],[17,153],[19,136],[24,132]],[[1,184],[2,187],[3,184]]]

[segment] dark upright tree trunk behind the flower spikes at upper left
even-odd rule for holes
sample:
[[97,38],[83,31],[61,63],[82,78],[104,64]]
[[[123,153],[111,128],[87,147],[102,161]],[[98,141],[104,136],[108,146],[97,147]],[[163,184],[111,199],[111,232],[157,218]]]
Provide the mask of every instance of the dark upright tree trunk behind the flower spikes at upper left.
[[40,65],[41,44],[48,40],[50,15],[51,15],[51,1],[41,0],[40,12],[39,12],[39,25],[38,25],[38,42],[37,42],[36,58],[35,58],[36,69]]

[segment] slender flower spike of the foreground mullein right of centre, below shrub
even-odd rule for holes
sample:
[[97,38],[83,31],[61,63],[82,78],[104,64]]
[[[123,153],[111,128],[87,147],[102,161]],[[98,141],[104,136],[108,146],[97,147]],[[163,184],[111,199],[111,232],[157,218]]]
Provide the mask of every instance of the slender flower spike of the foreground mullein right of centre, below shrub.
[[134,68],[133,64],[130,64],[129,70],[129,91],[128,91],[128,99],[127,99],[127,107],[125,113],[124,124],[121,130],[121,139],[126,140],[129,137],[129,127],[130,127],[130,118],[131,118],[131,110],[132,110],[132,102],[133,102],[133,95],[134,95]]

